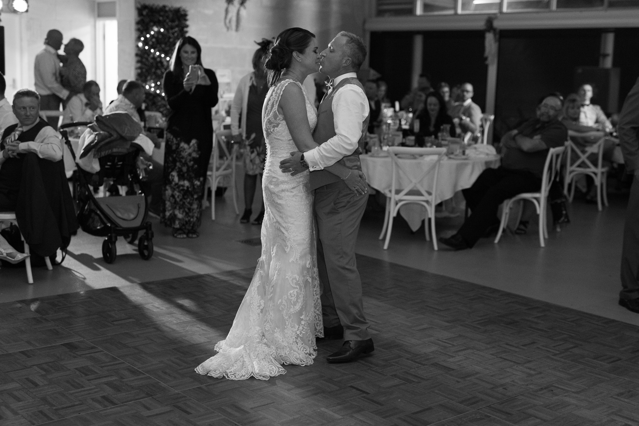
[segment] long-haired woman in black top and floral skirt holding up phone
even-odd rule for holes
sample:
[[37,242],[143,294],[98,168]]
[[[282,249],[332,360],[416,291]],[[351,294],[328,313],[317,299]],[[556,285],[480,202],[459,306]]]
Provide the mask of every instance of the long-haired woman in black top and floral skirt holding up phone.
[[175,45],[162,87],[171,107],[164,151],[164,203],[161,222],[175,238],[197,238],[204,179],[213,148],[211,109],[217,105],[215,73],[202,66],[197,40]]

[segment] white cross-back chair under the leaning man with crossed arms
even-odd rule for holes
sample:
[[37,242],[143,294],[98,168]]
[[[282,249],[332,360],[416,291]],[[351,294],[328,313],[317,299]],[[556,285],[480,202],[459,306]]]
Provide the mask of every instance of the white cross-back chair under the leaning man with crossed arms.
[[563,155],[566,147],[560,146],[558,148],[550,148],[548,156],[546,156],[546,164],[544,164],[544,174],[541,178],[541,190],[539,192],[523,192],[522,194],[515,195],[511,199],[504,201],[502,209],[502,222],[499,224],[499,231],[495,238],[495,243],[499,242],[502,238],[504,228],[508,224],[508,218],[511,213],[511,207],[515,202],[520,202],[520,213],[517,220],[519,224],[521,220],[521,213],[523,211],[523,202],[528,200],[535,205],[537,209],[537,215],[539,215],[539,245],[545,247],[544,240],[548,238],[547,222],[547,206],[548,206],[548,191],[550,191],[550,185],[553,183],[553,179],[557,176],[561,167],[561,156]]

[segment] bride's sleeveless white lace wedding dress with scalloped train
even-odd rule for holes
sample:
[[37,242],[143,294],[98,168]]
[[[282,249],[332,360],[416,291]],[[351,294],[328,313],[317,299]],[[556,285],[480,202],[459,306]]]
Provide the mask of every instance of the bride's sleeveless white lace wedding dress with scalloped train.
[[[215,345],[218,354],[197,367],[199,374],[268,380],[286,373],[282,364],[312,364],[315,337],[323,336],[309,172],[291,176],[279,168],[282,159],[297,151],[284,116],[277,112],[290,82],[294,80],[271,89],[262,113],[267,148],[262,255],[226,340]],[[304,97],[312,130],[316,111]]]

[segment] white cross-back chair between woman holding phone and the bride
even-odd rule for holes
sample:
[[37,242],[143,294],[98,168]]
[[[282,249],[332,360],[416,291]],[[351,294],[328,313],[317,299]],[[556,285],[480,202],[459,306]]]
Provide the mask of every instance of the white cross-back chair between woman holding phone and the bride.
[[211,188],[211,220],[215,220],[215,188],[224,176],[231,179],[231,195],[233,196],[233,206],[235,206],[235,214],[239,215],[237,188],[235,185],[235,160],[237,158],[238,147],[233,144],[233,148],[229,152],[223,137],[231,137],[231,130],[217,130],[213,132],[213,152],[211,154],[211,162],[209,170],[206,172],[206,181],[204,183],[204,201],[206,201],[206,189]]

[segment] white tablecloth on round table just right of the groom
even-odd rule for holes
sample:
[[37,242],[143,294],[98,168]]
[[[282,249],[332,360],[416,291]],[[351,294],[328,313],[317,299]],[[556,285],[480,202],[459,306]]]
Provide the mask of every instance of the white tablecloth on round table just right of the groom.
[[[390,190],[392,184],[392,164],[389,156],[371,156],[360,155],[362,161],[362,171],[366,175],[366,179],[373,188],[383,192]],[[418,178],[424,172],[425,162],[432,161],[433,157],[422,158],[400,158],[399,162],[404,169],[413,176]],[[435,194],[436,202],[450,199],[459,190],[470,188],[475,179],[483,172],[486,167],[498,167],[499,157],[475,157],[464,160],[453,160],[451,158],[443,158],[440,163],[439,178],[437,180],[437,190]],[[433,185],[434,174],[421,182],[424,189],[430,190]],[[399,185],[397,189],[404,188],[410,181],[403,174],[399,174]],[[413,231],[419,229],[422,220],[426,215],[426,210],[419,204],[405,204],[399,209],[410,228]]]

